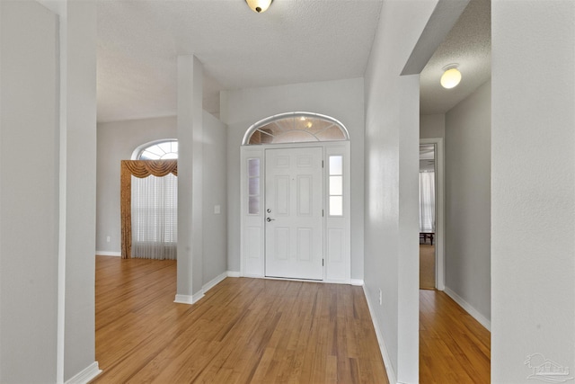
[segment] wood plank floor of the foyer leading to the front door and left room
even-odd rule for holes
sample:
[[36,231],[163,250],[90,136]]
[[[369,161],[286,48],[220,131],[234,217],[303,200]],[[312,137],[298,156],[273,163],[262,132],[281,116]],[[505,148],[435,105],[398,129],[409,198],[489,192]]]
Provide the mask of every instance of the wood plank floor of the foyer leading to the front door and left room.
[[360,287],[228,278],[173,303],[171,261],[96,256],[93,383],[387,383]]

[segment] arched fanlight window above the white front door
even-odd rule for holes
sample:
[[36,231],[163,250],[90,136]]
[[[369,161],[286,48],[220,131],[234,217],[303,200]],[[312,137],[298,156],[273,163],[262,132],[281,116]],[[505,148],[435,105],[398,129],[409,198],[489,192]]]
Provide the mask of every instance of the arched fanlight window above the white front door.
[[319,113],[288,112],[258,121],[245,132],[243,145],[349,140],[340,121]]

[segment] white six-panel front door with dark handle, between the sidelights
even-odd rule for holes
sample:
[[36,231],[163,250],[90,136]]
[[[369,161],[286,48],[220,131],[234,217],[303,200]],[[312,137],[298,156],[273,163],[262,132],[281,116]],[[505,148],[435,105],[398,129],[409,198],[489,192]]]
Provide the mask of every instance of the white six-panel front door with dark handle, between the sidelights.
[[323,148],[265,154],[265,274],[323,280]]

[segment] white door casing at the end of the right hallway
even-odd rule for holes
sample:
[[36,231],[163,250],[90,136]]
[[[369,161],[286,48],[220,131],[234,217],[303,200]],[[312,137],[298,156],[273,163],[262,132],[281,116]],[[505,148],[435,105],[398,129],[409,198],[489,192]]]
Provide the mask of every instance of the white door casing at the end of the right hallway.
[[420,138],[420,144],[434,144],[436,147],[436,223],[435,223],[435,285],[438,290],[446,289],[445,278],[445,154],[443,138]]

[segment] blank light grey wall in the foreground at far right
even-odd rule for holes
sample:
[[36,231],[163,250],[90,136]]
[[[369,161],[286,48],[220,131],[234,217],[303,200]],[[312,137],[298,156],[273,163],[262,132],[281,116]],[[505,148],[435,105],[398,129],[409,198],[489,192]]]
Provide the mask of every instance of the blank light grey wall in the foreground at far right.
[[[491,4],[491,381],[575,370],[575,2]],[[568,381],[571,382],[571,381]]]

